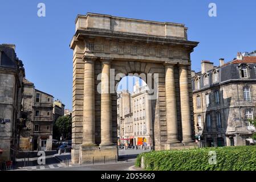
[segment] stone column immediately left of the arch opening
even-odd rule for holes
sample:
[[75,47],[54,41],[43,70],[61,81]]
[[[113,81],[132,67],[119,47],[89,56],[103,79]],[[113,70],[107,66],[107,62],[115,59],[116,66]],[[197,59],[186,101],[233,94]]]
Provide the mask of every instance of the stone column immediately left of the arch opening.
[[101,58],[101,146],[113,144],[112,140],[112,102],[110,93],[111,59]]

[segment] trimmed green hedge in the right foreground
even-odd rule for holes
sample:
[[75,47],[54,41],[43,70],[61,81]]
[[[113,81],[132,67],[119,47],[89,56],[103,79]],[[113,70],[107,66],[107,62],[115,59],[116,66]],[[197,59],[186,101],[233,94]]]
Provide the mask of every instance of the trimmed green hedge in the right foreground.
[[[217,164],[209,163],[210,151],[216,152]],[[155,171],[256,170],[256,146],[145,152],[137,157],[137,167],[142,156],[146,169]]]

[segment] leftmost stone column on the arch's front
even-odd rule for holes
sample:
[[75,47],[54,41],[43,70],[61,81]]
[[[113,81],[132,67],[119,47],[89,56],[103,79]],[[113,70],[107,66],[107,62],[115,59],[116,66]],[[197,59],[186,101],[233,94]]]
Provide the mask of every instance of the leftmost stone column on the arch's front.
[[95,85],[94,61],[96,57],[84,60],[84,106],[83,106],[83,146],[95,146]]

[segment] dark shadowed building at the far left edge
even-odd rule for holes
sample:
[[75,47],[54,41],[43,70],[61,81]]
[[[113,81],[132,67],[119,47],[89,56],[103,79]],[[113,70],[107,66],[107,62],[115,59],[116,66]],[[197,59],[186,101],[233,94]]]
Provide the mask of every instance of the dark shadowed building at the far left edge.
[[18,150],[23,77],[15,45],[0,44],[0,162],[14,160]]

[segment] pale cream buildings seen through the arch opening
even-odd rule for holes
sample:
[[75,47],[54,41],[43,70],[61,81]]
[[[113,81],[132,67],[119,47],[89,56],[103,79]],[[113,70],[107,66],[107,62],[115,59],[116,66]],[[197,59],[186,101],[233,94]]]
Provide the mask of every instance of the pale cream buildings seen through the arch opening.
[[152,145],[151,100],[148,87],[139,81],[133,92],[123,91],[117,94],[117,134],[120,144]]

